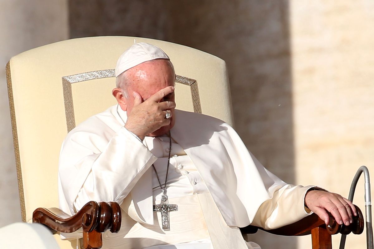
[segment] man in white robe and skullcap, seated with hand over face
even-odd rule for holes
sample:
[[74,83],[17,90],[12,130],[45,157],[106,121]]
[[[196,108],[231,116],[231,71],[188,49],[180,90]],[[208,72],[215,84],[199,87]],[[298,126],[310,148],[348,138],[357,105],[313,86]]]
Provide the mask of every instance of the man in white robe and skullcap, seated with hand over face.
[[[228,124],[175,110],[174,68],[158,47],[134,44],[118,60],[116,77],[118,105],[74,128],[59,162],[62,210],[74,214],[90,200],[120,203],[120,233],[105,233],[103,248],[258,248],[245,244],[238,227],[273,229],[311,211],[325,222],[326,211],[352,222],[347,199],[284,183]],[[170,231],[153,212],[162,196],[157,175],[163,184],[166,174],[169,203],[178,205]]]

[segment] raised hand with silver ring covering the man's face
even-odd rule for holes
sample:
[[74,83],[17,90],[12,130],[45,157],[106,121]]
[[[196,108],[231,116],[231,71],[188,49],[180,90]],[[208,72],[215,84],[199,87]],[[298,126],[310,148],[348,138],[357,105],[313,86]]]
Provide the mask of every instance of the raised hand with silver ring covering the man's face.
[[173,86],[165,87],[144,102],[140,94],[134,91],[134,106],[128,115],[125,128],[143,140],[147,134],[169,125],[170,119],[165,118],[166,110],[175,108],[175,102],[160,100],[173,91]]

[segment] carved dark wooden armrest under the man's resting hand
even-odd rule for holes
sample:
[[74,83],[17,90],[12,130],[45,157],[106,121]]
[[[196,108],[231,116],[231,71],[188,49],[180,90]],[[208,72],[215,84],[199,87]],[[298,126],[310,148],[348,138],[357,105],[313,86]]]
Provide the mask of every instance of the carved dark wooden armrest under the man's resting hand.
[[361,234],[362,231],[364,231],[364,216],[358,206],[355,205],[355,207],[357,210],[357,216],[353,216],[353,222],[348,226],[339,225],[331,214],[329,214],[330,222],[328,225],[326,225],[318,215],[311,214],[300,221],[273,230],[265,230],[262,227],[249,225],[240,228],[240,231],[242,231],[242,234],[251,234],[256,233],[258,229],[261,229],[268,233],[283,236],[302,236],[312,234],[313,249],[331,249],[332,234],[349,234],[351,232],[354,234]]

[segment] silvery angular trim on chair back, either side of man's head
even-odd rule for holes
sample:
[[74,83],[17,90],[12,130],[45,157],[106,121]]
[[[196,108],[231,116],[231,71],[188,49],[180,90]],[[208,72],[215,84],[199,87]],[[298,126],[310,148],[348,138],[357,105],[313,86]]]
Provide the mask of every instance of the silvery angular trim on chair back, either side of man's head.
[[[65,103],[65,116],[66,116],[66,126],[68,132],[73,130],[75,127],[75,117],[74,117],[74,104],[73,104],[73,93],[71,91],[71,84],[96,80],[102,78],[115,77],[114,69],[98,70],[92,72],[85,72],[81,74],[74,74],[62,77],[62,88],[64,91],[64,103]],[[176,75],[175,83],[180,83],[184,85],[189,85],[191,89],[193,111],[196,113],[201,113],[201,104],[199,96],[199,88],[197,87],[197,81],[184,76]]]

